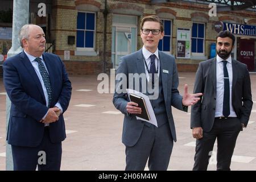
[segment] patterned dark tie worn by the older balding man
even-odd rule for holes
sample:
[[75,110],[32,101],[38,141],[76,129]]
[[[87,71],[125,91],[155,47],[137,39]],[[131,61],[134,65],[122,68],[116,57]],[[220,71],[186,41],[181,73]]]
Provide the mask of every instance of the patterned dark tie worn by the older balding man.
[[44,86],[46,86],[47,94],[48,94],[48,107],[51,104],[52,100],[52,87],[51,87],[51,81],[49,79],[49,75],[46,71],[46,67],[44,67],[44,64],[42,63],[42,60],[40,57],[36,57],[36,62],[38,62],[38,68],[40,71],[40,74],[43,78]]

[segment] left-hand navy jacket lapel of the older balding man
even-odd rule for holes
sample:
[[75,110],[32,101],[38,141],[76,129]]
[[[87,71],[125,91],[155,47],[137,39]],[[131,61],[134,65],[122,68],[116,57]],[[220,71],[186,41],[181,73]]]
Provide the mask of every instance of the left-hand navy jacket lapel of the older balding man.
[[[20,58],[21,58],[20,60],[24,64],[24,66],[27,68],[27,71],[30,73],[32,79],[36,82],[36,85],[38,86],[39,92],[44,97],[43,88],[42,88],[41,82],[38,78],[38,75],[36,75],[35,69],[32,66],[32,64],[31,64],[30,60],[28,59],[27,55],[24,53],[24,51],[20,54]],[[46,100],[45,97],[44,97],[44,100]]]

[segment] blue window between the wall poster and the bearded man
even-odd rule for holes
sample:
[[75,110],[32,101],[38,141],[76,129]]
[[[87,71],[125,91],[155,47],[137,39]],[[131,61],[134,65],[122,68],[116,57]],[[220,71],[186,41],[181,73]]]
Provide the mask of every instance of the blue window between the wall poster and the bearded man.
[[193,23],[192,47],[193,53],[204,53],[204,23]]

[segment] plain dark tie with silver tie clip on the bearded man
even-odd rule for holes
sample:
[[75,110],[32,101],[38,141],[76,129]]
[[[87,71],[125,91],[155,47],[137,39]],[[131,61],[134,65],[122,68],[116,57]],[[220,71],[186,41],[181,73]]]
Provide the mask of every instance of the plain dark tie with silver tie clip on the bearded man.
[[226,64],[228,61],[223,62],[223,73],[224,73],[224,98],[223,98],[223,115],[224,117],[228,117],[230,114],[230,107],[229,107],[229,73],[228,69],[226,68]]

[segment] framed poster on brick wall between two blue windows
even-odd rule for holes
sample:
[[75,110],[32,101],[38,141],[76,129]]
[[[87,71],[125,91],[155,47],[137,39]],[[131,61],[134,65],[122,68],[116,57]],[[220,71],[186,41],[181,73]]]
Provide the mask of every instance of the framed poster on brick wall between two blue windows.
[[177,58],[190,59],[191,57],[191,30],[177,28]]

